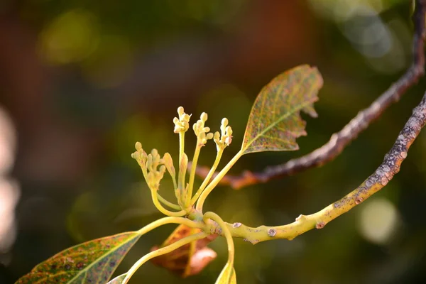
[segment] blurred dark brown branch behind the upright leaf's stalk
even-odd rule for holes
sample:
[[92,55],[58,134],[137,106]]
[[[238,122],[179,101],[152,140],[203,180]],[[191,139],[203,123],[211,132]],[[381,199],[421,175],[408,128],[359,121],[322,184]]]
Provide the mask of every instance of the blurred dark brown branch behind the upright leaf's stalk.
[[[226,175],[220,182],[222,185],[231,185],[235,189],[253,185],[260,182],[267,182],[272,178],[282,178],[284,176],[293,175],[309,168],[319,167],[334,160],[343,149],[354,141],[354,139],[366,130],[372,121],[378,119],[383,111],[391,104],[398,102],[400,97],[407,89],[417,82],[425,73],[425,55],[424,55],[424,39],[425,39],[425,0],[416,0],[416,9],[413,16],[415,25],[415,33],[413,37],[413,63],[400,77],[400,79],[389,87],[380,97],[378,97],[367,109],[359,111],[344,128],[332,135],[330,140],[317,150],[304,155],[300,158],[289,160],[281,165],[270,166],[265,170],[252,173],[249,170],[244,171],[240,175]],[[209,172],[208,168],[198,167],[197,175],[205,178]]]

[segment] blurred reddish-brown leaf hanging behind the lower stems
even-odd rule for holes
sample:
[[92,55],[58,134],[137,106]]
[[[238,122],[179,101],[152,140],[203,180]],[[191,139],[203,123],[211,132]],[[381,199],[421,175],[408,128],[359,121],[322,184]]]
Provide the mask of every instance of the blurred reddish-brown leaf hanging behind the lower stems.
[[[197,234],[200,229],[191,229],[189,226],[179,225],[175,231],[164,241],[160,248],[173,244],[175,241]],[[181,246],[175,251],[157,256],[151,261],[156,266],[161,266],[168,271],[172,271],[183,278],[200,273],[211,261],[216,258],[217,253],[207,247],[211,241],[213,241],[217,235],[210,235],[204,239],[193,241],[190,244]],[[151,251],[159,249],[158,246],[154,246]]]

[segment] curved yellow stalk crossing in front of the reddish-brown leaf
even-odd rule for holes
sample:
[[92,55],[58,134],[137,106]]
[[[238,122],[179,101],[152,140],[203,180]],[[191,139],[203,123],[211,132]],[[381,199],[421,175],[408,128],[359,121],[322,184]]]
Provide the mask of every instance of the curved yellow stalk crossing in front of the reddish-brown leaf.
[[179,241],[176,241],[173,244],[170,244],[168,246],[165,246],[164,248],[157,249],[155,251],[151,251],[151,253],[146,254],[142,258],[140,258],[138,261],[136,261],[135,264],[127,271],[126,278],[124,278],[122,283],[127,283],[131,276],[140,268],[143,263],[146,263],[146,261],[149,261],[151,258],[155,258],[155,256],[161,256],[165,253],[170,253],[170,251],[174,251],[175,249],[179,249],[181,246],[185,246],[185,244],[189,244],[192,241],[197,241],[199,239],[203,239],[208,234],[206,233],[198,233],[191,236],[187,236],[184,239],[180,239]]

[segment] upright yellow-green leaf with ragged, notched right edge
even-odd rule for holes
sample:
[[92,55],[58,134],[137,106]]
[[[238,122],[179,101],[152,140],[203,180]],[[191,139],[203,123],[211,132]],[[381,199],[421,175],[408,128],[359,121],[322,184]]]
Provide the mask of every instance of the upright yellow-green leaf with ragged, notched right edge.
[[251,108],[242,153],[297,150],[296,138],[306,135],[300,111],[317,116],[313,104],[321,87],[320,72],[309,65],[283,72],[263,87]]

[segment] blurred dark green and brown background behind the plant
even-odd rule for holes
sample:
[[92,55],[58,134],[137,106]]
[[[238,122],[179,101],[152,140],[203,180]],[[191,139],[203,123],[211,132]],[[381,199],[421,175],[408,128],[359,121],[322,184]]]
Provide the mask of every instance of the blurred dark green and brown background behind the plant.
[[[305,117],[300,151],[246,155],[232,173],[322,146],[410,65],[412,9],[403,0],[2,0],[0,283],[69,246],[161,217],[130,154],[141,141],[176,155],[181,105],[194,118],[206,111],[213,130],[229,119],[224,165],[261,87],[316,65],[320,116]],[[206,208],[250,226],[322,209],[373,173],[425,87],[421,80],[332,163],[243,190],[218,187]],[[200,163],[214,155],[208,143]],[[426,131],[386,188],[324,229],[256,246],[236,240],[239,283],[424,283],[425,160]],[[173,195],[170,180],[162,185]],[[143,236],[117,273],[173,229]],[[147,263],[131,283],[214,283],[226,243],[211,247],[219,257],[200,275],[182,280]]]

